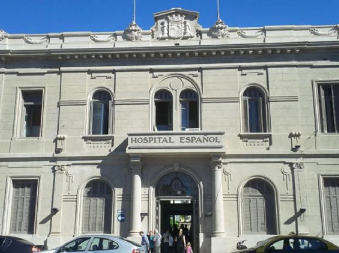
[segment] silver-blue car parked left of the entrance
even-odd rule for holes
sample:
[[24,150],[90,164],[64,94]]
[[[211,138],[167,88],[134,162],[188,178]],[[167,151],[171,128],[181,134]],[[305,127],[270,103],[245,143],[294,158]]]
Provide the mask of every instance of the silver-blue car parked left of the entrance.
[[105,253],[146,253],[146,248],[131,240],[113,235],[82,235],[64,245],[43,253],[102,252]]

